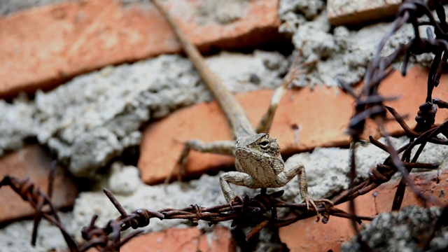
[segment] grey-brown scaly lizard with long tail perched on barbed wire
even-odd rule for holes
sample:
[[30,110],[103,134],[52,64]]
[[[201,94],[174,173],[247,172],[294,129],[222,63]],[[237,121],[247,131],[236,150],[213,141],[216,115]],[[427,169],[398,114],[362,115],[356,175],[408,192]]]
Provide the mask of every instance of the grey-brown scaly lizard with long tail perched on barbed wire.
[[[298,176],[300,196],[302,202],[309,205],[316,211],[317,219],[320,214],[316,207],[316,203],[326,203],[331,206],[333,203],[327,199],[314,200],[308,193],[308,181],[305,167],[302,163],[295,163],[286,166],[280,154],[280,147],[276,139],[269,136],[268,132],[272,125],[274,113],[279,105],[280,99],[286,93],[288,85],[295,78],[295,69],[291,68],[283,82],[274,90],[271,98],[271,104],[260,120],[260,124],[256,129],[251,125],[248,116],[237,99],[223,85],[216,74],[209,69],[199,50],[188,41],[176,20],[170,15],[159,0],[151,0],[156,8],[162,13],[167,20],[174,34],[181,43],[184,52],[193,63],[204,83],[207,85],[214,98],[221,106],[221,109],[228,118],[228,123],[232,130],[235,141],[216,141],[206,144],[200,140],[188,140],[184,143],[183,151],[176,162],[174,169],[179,169],[178,177],[185,170],[188,153],[190,150],[200,151],[202,153],[217,153],[223,155],[235,155],[236,172],[225,172],[220,176],[221,190],[225,200],[232,206],[233,202],[242,199],[235,195],[230,183],[237,186],[246,186],[247,188],[279,188],[286,185],[295,176]],[[296,57],[297,60],[297,57]],[[171,176],[167,177],[165,183],[169,181]]]

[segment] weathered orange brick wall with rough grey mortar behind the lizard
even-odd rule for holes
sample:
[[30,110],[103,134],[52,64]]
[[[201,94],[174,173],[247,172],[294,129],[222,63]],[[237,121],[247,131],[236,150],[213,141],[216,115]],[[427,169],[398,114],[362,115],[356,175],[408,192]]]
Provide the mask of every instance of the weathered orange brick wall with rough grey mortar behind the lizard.
[[[388,31],[388,24],[377,20],[395,15],[398,2],[329,0],[327,6],[324,1],[302,1],[290,6],[287,1],[276,0],[164,1],[190,41],[208,56],[207,63],[214,71],[221,72],[218,74],[225,85],[232,92],[241,93],[237,99],[254,124],[269,103],[270,89],[280,83],[290,66],[291,48],[301,48],[305,60],[317,62],[307,76],[295,83],[308,86],[289,90],[283,98],[271,132],[278,138],[284,155],[302,153],[303,157],[308,155],[305,151],[318,153],[319,148],[336,147],[344,147],[344,155],[348,156],[346,146],[350,139],[344,130],[353,113],[353,98],[333,82],[335,76],[345,71],[349,82],[360,87],[358,83],[375,40]],[[118,216],[115,209],[104,207],[109,202],[97,188],[112,187],[132,210],[175,207],[176,202],[179,207],[187,207],[196,202],[200,190],[204,190],[204,195],[215,193],[213,200],[204,196],[209,201],[198,204],[223,203],[220,193],[216,193],[217,176],[202,176],[199,182],[188,181],[191,188],[184,192],[178,191],[177,183],[172,183],[169,190],[178,192],[177,195],[161,193],[160,182],[170,173],[181,152],[179,141],[224,140],[231,139],[231,135],[218,105],[210,102],[209,92],[200,84],[188,59],[166,55],[179,54],[181,48],[150,3],[1,1],[0,15],[1,176],[29,176],[36,185],[45,188],[46,167],[52,159],[59,160],[57,193],[53,200],[57,208],[69,209],[66,214],[71,216],[68,221],[72,219],[69,223],[75,227],[73,233],[77,239],[80,239],[80,226],[87,225],[92,214],[102,212],[103,221]],[[347,29],[344,25],[360,28]],[[222,50],[232,52],[216,54]],[[359,57],[353,58],[353,55]],[[346,64],[350,65],[348,69],[340,63],[341,59],[350,62]],[[400,114],[411,115],[406,123],[412,127],[415,125],[412,117],[420,104],[416,100],[424,100],[416,94],[426,92],[427,76],[427,69],[412,66],[407,76],[394,72],[381,85],[385,95],[401,94],[400,100],[388,105]],[[443,76],[435,96],[446,96],[448,87],[443,84],[447,82]],[[446,111],[439,111],[436,123],[443,123],[447,116]],[[397,124],[387,125],[393,134],[403,134],[400,129]],[[380,137],[373,124],[367,127],[367,135]],[[233,162],[228,157],[193,153],[187,175],[197,178],[201,174],[216,173],[222,167],[232,167]],[[366,172],[360,174],[360,179],[366,178],[371,165],[374,164],[365,165]],[[429,174],[425,175],[425,181],[433,181],[434,177],[446,181],[445,176],[446,172],[440,177]],[[319,178],[314,177],[311,171],[310,191],[318,194]],[[418,182],[422,177],[413,179]],[[391,188],[396,183],[391,181],[377,188],[375,194],[380,197],[373,192],[359,197],[357,204],[365,206],[359,210],[360,215],[388,211],[385,206],[391,202]],[[85,192],[78,195],[77,187]],[[429,183],[419,190],[426,192],[434,187]],[[431,193],[440,194],[444,188],[446,183],[437,183],[437,190]],[[339,186],[333,190],[342,189]],[[386,199],[384,204],[379,203],[381,199]],[[442,200],[446,202],[446,197]],[[413,204],[425,205],[407,193],[404,205]],[[1,222],[29,218],[33,213],[12,190],[1,188]],[[342,242],[353,235],[345,219],[332,218],[327,225],[313,221],[310,218],[281,228],[281,241],[293,251],[339,251]],[[11,249],[34,249],[29,247],[27,239],[31,237],[30,223],[15,222],[0,230],[8,239],[12,239],[6,236],[10,230],[22,230],[24,241],[13,241],[8,245]],[[202,233],[197,228],[176,230],[173,227],[181,225],[176,222],[167,226],[155,224],[154,228],[151,225],[150,234],[132,239],[123,250],[147,248],[151,251],[150,248],[163,250],[176,246],[187,251],[235,250],[235,236],[232,237],[228,226],[218,225]],[[48,227],[41,229],[37,249],[64,248],[61,237],[53,238],[54,231],[47,232]],[[335,237],[339,230],[343,232]],[[50,237],[58,240],[56,245]],[[213,242],[207,242],[209,239]],[[260,241],[257,248],[266,244],[267,241]]]

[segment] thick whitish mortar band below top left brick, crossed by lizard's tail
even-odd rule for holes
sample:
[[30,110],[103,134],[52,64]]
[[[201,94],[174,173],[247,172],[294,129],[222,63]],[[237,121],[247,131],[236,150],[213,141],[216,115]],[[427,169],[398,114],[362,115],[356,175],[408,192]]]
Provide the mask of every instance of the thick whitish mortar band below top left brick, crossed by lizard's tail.
[[[274,88],[288,69],[277,52],[222,52],[207,62],[232,92]],[[108,66],[37,92],[32,102],[1,102],[6,120],[0,123],[0,151],[20,148],[25,137],[36,136],[74,175],[92,176],[124,148],[139,144],[143,123],[208,100],[211,94],[184,57]]]

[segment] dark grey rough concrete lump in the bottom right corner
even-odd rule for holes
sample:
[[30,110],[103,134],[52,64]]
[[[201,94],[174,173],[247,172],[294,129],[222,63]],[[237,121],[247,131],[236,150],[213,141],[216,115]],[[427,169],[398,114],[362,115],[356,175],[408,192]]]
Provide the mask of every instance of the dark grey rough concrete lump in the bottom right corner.
[[[379,214],[360,231],[361,240],[372,251],[420,251],[441,214],[440,208],[405,207],[400,211]],[[342,245],[341,251],[365,251],[356,241],[357,236]],[[448,228],[435,233],[427,251],[448,248]]]

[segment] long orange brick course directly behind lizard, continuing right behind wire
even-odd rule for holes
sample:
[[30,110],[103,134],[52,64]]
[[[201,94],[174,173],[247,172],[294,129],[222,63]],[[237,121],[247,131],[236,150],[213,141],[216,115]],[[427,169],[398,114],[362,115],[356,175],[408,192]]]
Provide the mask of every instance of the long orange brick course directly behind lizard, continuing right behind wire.
[[[405,77],[395,72],[381,83],[381,94],[401,95],[398,101],[387,104],[402,115],[408,114],[409,117],[405,121],[410,127],[414,127],[414,116],[426,97],[427,76],[426,69],[416,66],[410,69]],[[445,83],[448,83],[448,79],[443,76],[439,87],[434,90],[434,97],[448,97],[448,85]],[[271,94],[271,90],[262,90],[236,95],[253,125],[256,125],[265,113]],[[353,98],[337,88],[289,90],[279,105],[271,135],[277,138],[283,155],[310,151],[317,146],[347,146],[350,139],[344,131],[352,113]],[[447,117],[447,110],[439,110],[436,123],[442,123]],[[298,144],[295,143],[293,125],[299,127]],[[392,134],[403,132],[395,122],[388,123],[386,129]],[[369,135],[376,139],[380,137],[372,122],[368,123],[365,130],[365,138]],[[183,148],[179,141],[188,139],[200,139],[206,143],[232,139],[227,120],[216,102],[181,109],[144,129],[137,165],[144,182],[154,184],[163,181],[179,158]],[[233,158],[193,151],[188,158],[187,174],[197,175],[232,165]]]

